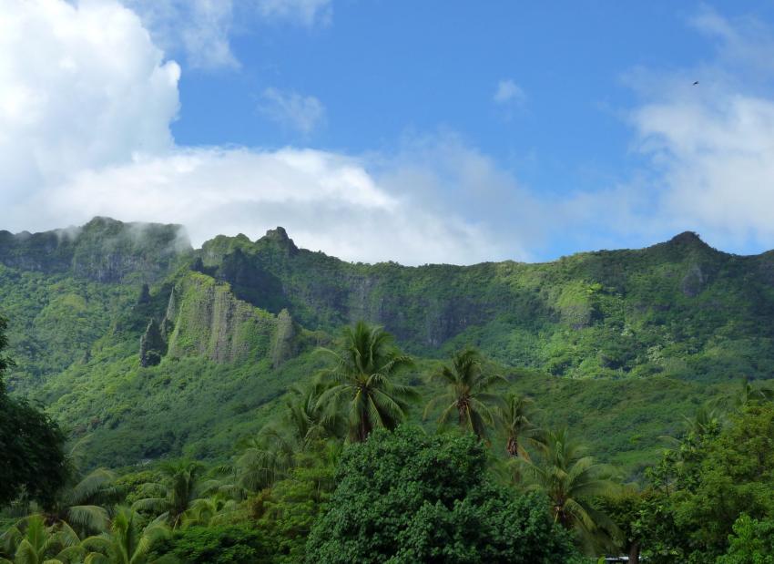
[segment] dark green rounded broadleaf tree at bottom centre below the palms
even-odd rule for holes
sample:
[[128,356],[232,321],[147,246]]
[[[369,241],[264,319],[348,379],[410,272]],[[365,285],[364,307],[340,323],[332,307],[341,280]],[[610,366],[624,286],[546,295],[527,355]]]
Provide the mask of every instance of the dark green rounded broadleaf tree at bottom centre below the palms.
[[487,480],[473,436],[376,432],[345,448],[308,562],[567,562],[574,549],[541,497]]

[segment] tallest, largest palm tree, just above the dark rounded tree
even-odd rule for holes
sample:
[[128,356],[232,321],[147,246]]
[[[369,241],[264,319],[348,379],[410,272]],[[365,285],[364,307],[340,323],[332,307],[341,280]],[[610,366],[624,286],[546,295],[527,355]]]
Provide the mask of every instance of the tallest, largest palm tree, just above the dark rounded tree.
[[318,405],[329,413],[344,409],[351,441],[364,441],[375,427],[392,429],[406,416],[408,401],[416,397],[410,386],[392,382],[411,358],[392,347],[392,335],[381,327],[358,322],[344,330],[341,350],[322,349],[335,365],[321,373],[327,388]]

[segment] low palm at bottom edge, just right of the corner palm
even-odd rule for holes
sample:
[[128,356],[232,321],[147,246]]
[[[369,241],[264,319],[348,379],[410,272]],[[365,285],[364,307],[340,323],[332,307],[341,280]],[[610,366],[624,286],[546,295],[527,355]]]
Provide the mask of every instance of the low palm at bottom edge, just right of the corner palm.
[[144,564],[155,542],[168,538],[169,528],[163,517],[140,528],[141,518],[131,508],[119,507],[110,523],[109,532],[85,538],[84,564]]

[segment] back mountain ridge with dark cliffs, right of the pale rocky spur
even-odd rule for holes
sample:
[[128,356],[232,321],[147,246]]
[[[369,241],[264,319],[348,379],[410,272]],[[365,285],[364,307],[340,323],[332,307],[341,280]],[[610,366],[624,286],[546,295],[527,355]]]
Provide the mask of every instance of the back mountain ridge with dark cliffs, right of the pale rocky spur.
[[545,264],[351,264],[299,250],[280,229],[219,237],[198,254],[203,272],[258,307],[325,331],[381,323],[415,354],[472,343],[557,375],[772,374],[774,253],[729,255],[693,233]]

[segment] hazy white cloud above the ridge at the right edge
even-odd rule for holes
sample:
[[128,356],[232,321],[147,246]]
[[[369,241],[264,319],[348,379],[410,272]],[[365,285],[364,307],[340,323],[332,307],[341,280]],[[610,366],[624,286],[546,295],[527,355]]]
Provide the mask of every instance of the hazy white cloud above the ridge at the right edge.
[[[704,10],[692,24],[718,41],[716,60],[628,77],[643,97],[631,114],[656,181],[654,227],[694,229],[727,249],[774,245],[774,42],[752,19]],[[699,82],[693,86],[694,78]]]

